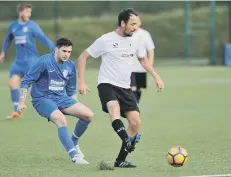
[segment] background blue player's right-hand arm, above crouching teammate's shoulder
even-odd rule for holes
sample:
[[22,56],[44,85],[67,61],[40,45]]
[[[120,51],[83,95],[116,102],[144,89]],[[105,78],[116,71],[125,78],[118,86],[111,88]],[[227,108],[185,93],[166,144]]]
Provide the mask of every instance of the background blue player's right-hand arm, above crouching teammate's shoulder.
[[51,40],[47,37],[47,35],[43,32],[43,30],[40,28],[40,26],[37,23],[34,23],[34,36],[39,39],[47,48],[49,48],[50,51],[55,50],[54,44],[51,42]]

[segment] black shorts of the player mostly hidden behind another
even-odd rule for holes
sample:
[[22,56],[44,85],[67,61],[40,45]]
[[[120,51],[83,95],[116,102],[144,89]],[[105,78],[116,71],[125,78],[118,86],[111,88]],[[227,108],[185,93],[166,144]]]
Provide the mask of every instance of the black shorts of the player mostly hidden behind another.
[[133,72],[131,75],[131,87],[147,88],[147,73]]

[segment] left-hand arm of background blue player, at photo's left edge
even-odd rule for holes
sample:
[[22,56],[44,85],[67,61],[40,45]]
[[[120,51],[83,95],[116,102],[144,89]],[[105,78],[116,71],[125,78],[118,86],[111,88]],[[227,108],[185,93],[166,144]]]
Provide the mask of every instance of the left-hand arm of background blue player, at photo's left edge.
[[6,52],[7,52],[7,50],[9,49],[9,47],[10,47],[10,45],[11,45],[13,39],[14,39],[14,36],[13,36],[12,33],[11,33],[11,25],[10,25],[9,28],[8,28],[8,31],[7,31],[5,40],[4,40],[4,42],[3,42],[2,52],[1,52],[1,54],[0,54],[0,62],[3,62],[3,61],[4,61]]

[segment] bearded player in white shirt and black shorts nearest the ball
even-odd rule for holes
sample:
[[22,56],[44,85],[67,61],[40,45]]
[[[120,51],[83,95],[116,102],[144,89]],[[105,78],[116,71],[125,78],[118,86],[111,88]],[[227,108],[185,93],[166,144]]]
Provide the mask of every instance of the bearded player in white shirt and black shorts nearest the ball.
[[[78,91],[86,95],[89,90],[84,81],[86,62],[90,57],[102,57],[98,93],[103,111],[109,113],[112,127],[122,140],[122,147],[114,163],[115,167],[120,168],[136,167],[125,159],[140,139],[140,113],[130,88],[130,77],[137,58],[143,68],[153,76],[158,91],[161,92],[164,88],[163,81],[146,57],[143,45],[140,45],[142,40],[133,36],[138,29],[138,22],[138,14],[133,9],[122,10],[118,16],[117,29],[99,37],[78,58]],[[127,131],[121,116],[129,122]]]

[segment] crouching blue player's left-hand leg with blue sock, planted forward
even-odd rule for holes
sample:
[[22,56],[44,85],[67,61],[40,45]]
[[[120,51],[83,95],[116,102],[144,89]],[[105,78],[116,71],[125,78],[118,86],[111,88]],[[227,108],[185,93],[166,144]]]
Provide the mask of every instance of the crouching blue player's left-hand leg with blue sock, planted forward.
[[88,164],[82,157],[78,156],[75,146],[68,135],[67,121],[63,113],[55,110],[50,115],[50,120],[58,127],[59,140],[69,154],[71,161],[75,164]]

